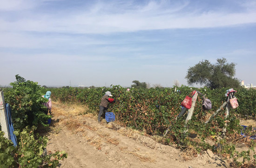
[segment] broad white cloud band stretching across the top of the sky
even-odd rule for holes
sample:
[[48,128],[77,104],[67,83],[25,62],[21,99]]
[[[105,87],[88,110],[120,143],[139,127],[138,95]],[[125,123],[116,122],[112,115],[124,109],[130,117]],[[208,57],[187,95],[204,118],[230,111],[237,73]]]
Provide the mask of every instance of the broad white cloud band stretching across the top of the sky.
[[[24,6],[34,6],[33,3],[29,4]],[[58,11],[56,14],[31,13],[29,17],[17,21],[1,19],[0,30],[112,33],[176,28],[211,28],[256,23],[256,10],[244,13],[226,13],[225,11],[199,13],[195,9],[182,13],[183,9],[189,5],[188,1],[182,4],[169,3],[168,8],[166,3],[156,3],[156,1],[133,8],[128,7],[131,4],[124,5],[127,4],[122,4],[120,9],[116,9],[113,3],[101,2],[88,11]],[[13,7],[9,8],[14,9],[15,6],[13,1]]]

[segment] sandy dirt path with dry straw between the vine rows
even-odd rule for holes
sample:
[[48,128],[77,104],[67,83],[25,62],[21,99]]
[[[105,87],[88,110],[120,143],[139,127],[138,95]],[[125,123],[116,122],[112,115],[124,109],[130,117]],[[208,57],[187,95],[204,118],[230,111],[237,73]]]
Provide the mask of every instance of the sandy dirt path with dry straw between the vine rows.
[[[205,153],[185,161],[184,152],[155,142],[142,132],[115,122],[97,122],[60,103],[53,104],[47,151],[65,150],[60,168],[213,168],[229,167],[216,155]],[[79,115],[80,114],[80,115]]]

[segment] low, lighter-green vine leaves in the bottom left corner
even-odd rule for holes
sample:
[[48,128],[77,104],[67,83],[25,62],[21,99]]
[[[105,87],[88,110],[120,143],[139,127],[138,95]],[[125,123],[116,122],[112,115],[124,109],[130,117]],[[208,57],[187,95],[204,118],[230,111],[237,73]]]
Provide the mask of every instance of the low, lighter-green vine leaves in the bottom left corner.
[[34,136],[36,127],[26,127],[23,131],[15,131],[18,146],[14,147],[10,140],[3,137],[0,131],[0,165],[8,167],[51,167],[56,168],[59,160],[67,158],[65,152],[55,152],[44,155],[43,151],[47,146],[47,137]]

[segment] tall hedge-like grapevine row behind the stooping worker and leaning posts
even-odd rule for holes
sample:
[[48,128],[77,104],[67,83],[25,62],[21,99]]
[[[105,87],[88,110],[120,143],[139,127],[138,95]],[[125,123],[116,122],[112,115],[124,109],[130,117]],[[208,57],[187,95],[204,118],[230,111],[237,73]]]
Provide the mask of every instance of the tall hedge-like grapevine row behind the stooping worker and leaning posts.
[[[109,111],[114,112],[116,119],[122,121],[127,126],[146,130],[148,134],[163,134],[169,125],[175,125],[175,117],[180,112],[180,104],[182,100],[189,95],[192,90],[198,90],[212,102],[212,110],[216,111],[226,101],[225,92],[229,88],[221,88],[216,90],[210,90],[209,88],[191,88],[187,86],[181,86],[177,88],[181,90],[181,94],[174,92],[174,88],[132,88],[130,91],[126,91],[126,88],[121,86],[113,86],[112,88],[95,88],[95,89],[80,89],[80,88],[68,88],[68,89],[50,89],[52,91],[52,98],[58,99],[61,102],[80,102],[85,103],[92,110],[99,110],[101,97],[106,91],[111,91],[116,103],[110,104]],[[229,116],[229,125],[227,130],[230,132],[236,132],[236,125],[238,120],[234,113],[241,115],[255,115],[256,111],[256,99],[252,95],[256,95],[256,90],[246,90],[241,88],[237,90],[236,97],[238,98],[239,107],[237,109],[231,109],[231,115]],[[246,97],[246,98],[244,98]],[[195,129],[206,129],[202,132],[202,135],[208,136],[206,132],[210,132],[211,135],[216,135],[224,124],[224,110],[213,118],[208,126],[202,124],[205,116],[209,111],[202,110],[202,98],[198,96],[194,115],[192,117],[192,125],[197,124]],[[250,110],[248,110],[250,109]],[[229,127],[230,126],[230,127]],[[191,126],[192,127],[192,126]],[[202,127],[202,128],[201,128]],[[196,131],[198,131],[196,129]]]

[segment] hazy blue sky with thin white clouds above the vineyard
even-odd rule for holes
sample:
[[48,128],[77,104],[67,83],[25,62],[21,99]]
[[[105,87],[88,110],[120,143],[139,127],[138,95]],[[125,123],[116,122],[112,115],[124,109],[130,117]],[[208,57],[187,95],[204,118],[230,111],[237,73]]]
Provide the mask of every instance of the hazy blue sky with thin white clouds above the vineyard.
[[189,67],[217,58],[256,85],[256,0],[0,4],[0,85],[16,74],[47,86],[188,85]]

